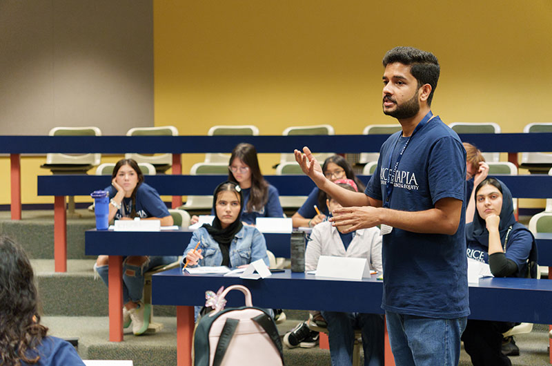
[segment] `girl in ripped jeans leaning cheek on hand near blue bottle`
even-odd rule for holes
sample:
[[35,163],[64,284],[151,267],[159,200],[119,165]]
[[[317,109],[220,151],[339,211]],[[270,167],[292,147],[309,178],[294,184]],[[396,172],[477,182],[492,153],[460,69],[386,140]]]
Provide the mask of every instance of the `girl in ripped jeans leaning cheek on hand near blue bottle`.
[[[160,220],[171,226],[172,216],[155,189],[144,183],[144,174],[132,159],[121,159],[111,175],[109,220]],[[150,325],[150,305],[142,303],[144,272],[177,260],[176,256],[128,256],[123,261],[123,325],[132,322],[132,333],[139,336]],[[108,285],[108,256],[99,256],[94,269]]]

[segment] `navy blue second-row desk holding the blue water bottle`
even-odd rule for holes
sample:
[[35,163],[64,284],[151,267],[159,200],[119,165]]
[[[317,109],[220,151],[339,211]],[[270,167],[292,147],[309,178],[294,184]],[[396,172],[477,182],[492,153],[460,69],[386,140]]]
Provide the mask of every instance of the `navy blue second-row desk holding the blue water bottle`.
[[[87,256],[181,256],[193,230],[113,231],[87,230],[84,233]],[[276,257],[290,258],[290,234],[264,233],[266,247]]]

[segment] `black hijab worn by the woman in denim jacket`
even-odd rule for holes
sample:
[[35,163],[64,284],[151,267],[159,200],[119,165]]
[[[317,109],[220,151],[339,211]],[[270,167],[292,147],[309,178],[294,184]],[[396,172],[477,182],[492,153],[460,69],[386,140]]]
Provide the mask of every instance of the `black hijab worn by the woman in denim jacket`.
[[[228,225],[226,229],[222,229],[219,217],[217,216],[217,196],[222,191],[230,191],[237,193],[239,198],[239,213],[237,215],[236,220]],[[207,230],[209,235],[215,239],[219,245],[224,245],[225,247],[229,247],[232,240],[234,240],[236,234],[242,230],[242,227],[244,227],[244,224],[242,224],[242,209],[244,208],[244,197],[242,195],[242,189],[239,187],[239,185],[235,182],[222,182],[217,186],[215,189],[215,192],[213,193],[213,211],[215,211],[215,219],[213,220],[213,224],[203,224],[203,227]]]

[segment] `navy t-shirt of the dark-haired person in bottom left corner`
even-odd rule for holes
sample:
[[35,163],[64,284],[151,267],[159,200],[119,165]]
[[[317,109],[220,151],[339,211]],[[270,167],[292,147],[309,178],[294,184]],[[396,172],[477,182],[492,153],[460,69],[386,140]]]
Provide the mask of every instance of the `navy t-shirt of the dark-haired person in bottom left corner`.
[[[52,336],[42,338],[36,351],[29,351],[27,356],[34,358],[37,352],[40,359],[34,366],[84,366],[75,347],[61,338]],[[21,362],[21,366],[28,366],[28,363]]]

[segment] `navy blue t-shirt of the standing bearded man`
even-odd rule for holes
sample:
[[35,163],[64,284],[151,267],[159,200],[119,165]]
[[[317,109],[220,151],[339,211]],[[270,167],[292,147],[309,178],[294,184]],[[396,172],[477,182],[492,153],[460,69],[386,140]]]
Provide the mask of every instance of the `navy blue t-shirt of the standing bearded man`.
[[[382,145],[366,195],[386,200],[386,179],[403,142],[402,131]],[[394,152],[394,153],[393,153]],[[391,161],[391,155],[395,155]],[[466,151],[458,135],[433,117],[411,138],[397,168],[389,207],[400,211],[433,209],[442,198],[464,202]],[[393,228],[383,236],[382,308],[428,318],[469,315],[467,259],[464,255],[465,204],[454,235]],[[428,223],[430,226],[431,223]]]

